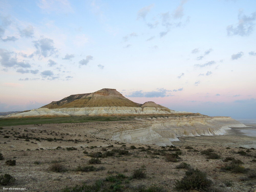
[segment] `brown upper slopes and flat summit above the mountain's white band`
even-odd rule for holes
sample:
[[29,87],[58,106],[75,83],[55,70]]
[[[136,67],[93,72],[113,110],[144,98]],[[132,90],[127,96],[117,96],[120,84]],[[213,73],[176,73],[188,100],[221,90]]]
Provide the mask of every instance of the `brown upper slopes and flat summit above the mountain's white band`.
[[125,98],[116,89],[101,89],[94,93],[70,95],[60,101],[52,101],[41,108],[82,108],[82,107],[140,107],[142,104],[135,103]]

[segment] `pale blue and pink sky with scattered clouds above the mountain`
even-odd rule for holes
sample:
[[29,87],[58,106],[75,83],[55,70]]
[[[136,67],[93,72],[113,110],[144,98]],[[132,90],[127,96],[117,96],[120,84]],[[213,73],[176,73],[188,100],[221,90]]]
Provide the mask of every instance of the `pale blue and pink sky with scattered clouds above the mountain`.
[[255,118],[255,24],[255,0],[0,0],[0,111],[112,88]]

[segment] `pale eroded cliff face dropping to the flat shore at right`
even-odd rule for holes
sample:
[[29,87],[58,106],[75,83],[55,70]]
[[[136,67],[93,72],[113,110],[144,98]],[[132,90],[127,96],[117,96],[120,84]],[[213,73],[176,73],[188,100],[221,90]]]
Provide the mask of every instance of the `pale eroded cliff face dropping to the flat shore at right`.
[[[178,137],[200,135],[223,135],[230,127],[245,127],[230,117],[209,117],[205,115],[187,117],[165,117],[138,119],[142,128],[115,132],[112,139],[121,142],[172,145]],[[124,127],[123,127],[124,128]],[[125,129],[125,128],[124,128]]]

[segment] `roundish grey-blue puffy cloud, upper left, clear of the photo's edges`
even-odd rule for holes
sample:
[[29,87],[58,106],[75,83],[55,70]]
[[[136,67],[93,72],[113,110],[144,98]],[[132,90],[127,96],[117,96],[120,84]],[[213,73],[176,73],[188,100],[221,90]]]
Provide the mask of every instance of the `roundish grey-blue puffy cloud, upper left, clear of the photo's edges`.
[[49,38],[41,38],[37,41],[33,41],[35,48],[37,49],[36,54],[44,57],[49,57],[52,54],[56,54],[57,49],[54,47],[54,42]]

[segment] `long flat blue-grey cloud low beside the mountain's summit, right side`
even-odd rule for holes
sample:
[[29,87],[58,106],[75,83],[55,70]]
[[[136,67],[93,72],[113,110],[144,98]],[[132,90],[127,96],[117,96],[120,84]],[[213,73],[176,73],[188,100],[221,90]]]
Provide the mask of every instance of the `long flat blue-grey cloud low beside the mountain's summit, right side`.
[[[182,88],[183,89],[183,88]],[[158,91],[149,91],[149,92],[142,92],[140,91],[133,91],[130,95],[125,95],[126,97],[167,97],[167,92],[171,90],[166,90],[164,88],[158,88]]]

